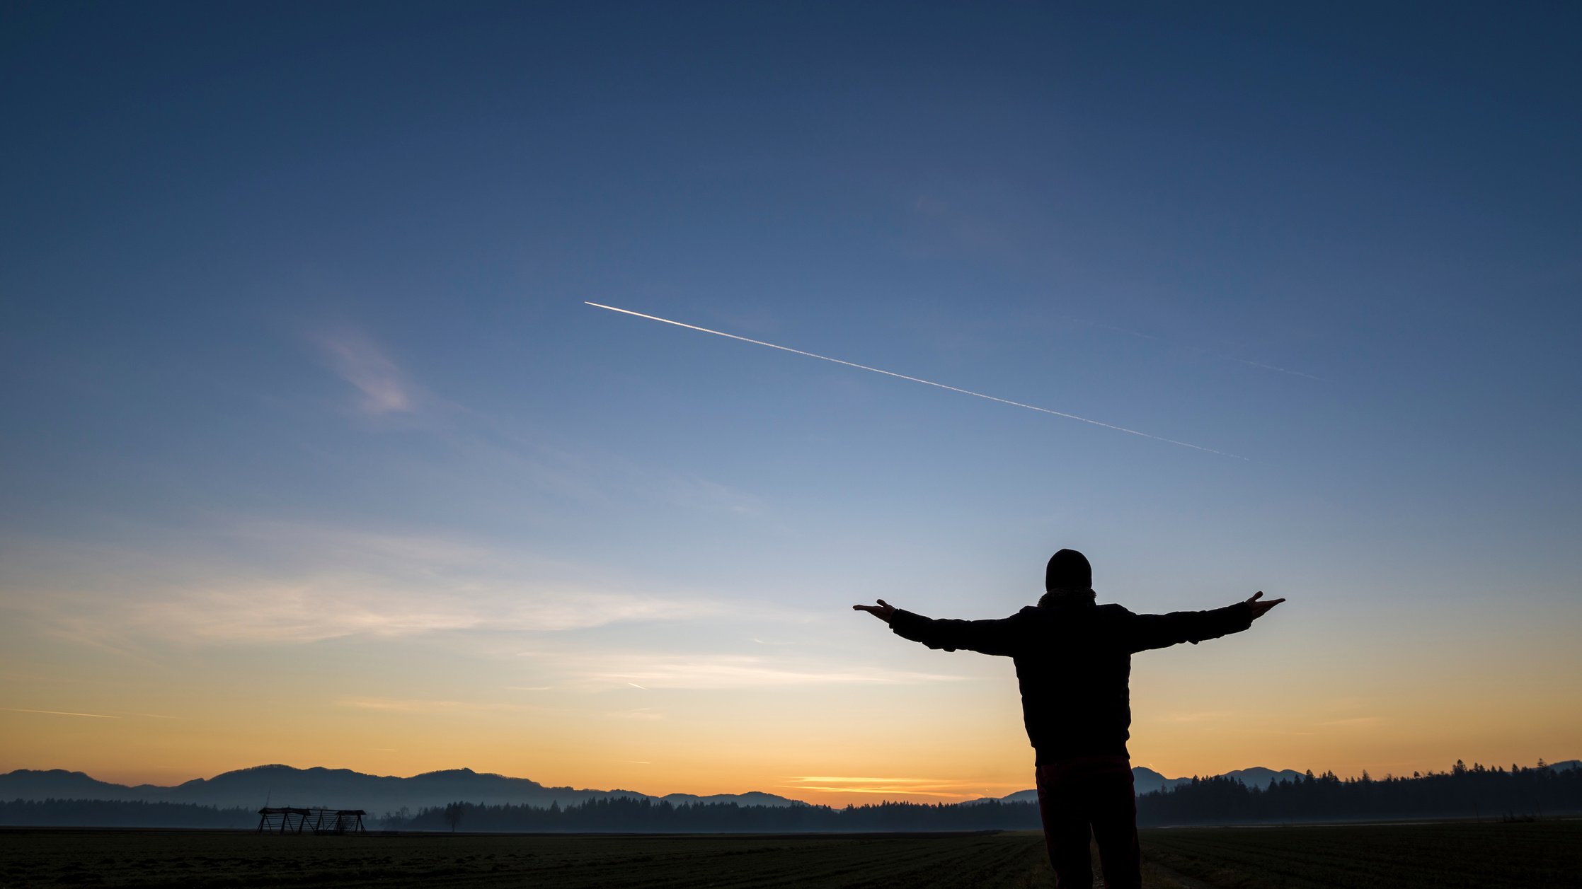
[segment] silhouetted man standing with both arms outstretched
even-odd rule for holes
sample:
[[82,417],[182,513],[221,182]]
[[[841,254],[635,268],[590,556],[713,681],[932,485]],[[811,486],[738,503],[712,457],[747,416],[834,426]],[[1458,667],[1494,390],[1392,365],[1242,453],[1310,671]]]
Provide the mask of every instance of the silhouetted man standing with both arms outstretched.
[[1088,837],[1109,889],[1142,886],[1131,786],[1131,655],[1240,633],[1285,600],[1264,593],[1215,611],[1131,614],[1095,604],[1085,555],[1062,549],[1044,571],[1044,598],[1001,620],[930,620],[884,600],[856,604],[897,636],[930,649],[968,649],[1016,661],[1022,720],[1033,742],[1038,811],[1049,864],[1063,887],[1090,889]]

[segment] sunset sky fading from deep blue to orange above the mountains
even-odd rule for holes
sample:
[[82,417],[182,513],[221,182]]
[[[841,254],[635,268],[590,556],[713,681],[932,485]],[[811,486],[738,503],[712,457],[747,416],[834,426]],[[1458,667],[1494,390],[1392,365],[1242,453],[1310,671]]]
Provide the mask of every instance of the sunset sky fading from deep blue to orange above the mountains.
[[1577,6],[449,6],[0,9],[0,770],[1003,796],[851,604],[1060,547],[1289,600],[1137,766],[1582,756]]

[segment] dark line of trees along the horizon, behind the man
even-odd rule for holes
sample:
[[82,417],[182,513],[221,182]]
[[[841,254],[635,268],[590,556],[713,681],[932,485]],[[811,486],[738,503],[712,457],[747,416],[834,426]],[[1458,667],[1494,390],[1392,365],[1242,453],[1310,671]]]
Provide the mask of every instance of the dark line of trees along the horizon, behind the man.
[[[1307,772],[1297,780],[1247,786],[1236,778],[1193,778],[1137,797],[1137,824],[1250,824],[1402,818],[1541,818],[1582,811],[1582,769],[1484,767],[1459,761],[1449,772],[1338,778]],[[253,827],[258,813],[172,802],[0,802],[0,826],[57,827]],[[1030,830],[1036,802],[967,805],[880,802],[869,805],[740,805],[611,797],[577,805],[452,802],[388,811],[370,819],[384,830],[478,830],[528,834],[780,834],[892,830]]]

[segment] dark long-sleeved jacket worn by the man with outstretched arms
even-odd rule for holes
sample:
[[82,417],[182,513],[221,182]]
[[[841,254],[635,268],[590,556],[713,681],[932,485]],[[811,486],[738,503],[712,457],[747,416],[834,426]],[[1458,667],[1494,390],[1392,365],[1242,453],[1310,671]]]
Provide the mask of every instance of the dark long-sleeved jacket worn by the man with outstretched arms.
[[1077,756],[1128,756],[1131,655],[1177,642],[1198,644],[1253,623],[1236,603],[1215,611],[1131,614],[1095,604],[1093,593],[1050,593],[1000,620],[932,620],[891,615],[897,636],[930,649],[967,649],[1016,661],[1022,720],[1038,764]]

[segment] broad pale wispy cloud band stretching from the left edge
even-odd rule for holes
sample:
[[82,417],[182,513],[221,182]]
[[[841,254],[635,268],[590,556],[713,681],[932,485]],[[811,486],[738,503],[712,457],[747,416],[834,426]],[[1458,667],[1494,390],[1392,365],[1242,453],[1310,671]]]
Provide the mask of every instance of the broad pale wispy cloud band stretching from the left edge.
[[435,536],[244,524],[182,541],[8,547],[0,609],[60,636],[122,647],[557,633],[734,607],[566,579],[579,569]]

